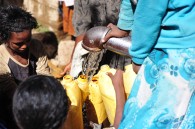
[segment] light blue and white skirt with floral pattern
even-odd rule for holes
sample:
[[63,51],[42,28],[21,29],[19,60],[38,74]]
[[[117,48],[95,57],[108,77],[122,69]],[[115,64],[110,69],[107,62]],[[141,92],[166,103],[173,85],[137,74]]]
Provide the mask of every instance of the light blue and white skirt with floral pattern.
[[154,49],[125,104],[119,129],[195,129],[195,48]]

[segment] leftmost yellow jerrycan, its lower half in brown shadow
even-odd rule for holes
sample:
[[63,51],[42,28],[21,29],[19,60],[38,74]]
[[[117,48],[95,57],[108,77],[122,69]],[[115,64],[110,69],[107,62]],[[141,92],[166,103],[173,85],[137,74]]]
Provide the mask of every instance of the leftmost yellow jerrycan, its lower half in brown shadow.
[[[65,75],[61,84],[66,89],[71,102],[64,127],[66,129],[83,129],[81,90],[70,75]],[[75,122],[76,124],[73,124]]]

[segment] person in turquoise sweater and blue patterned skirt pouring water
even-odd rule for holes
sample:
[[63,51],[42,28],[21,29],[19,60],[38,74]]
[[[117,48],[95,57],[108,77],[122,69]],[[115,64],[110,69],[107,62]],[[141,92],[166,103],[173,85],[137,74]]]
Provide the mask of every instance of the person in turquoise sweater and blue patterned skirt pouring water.
[[[194,5],[194,0],[138,1],[129,49],[138,75],[120,129],[195,128]],[[119,21],[127,25],[123,16]],[[114,29],[105,41],[115,36]]]

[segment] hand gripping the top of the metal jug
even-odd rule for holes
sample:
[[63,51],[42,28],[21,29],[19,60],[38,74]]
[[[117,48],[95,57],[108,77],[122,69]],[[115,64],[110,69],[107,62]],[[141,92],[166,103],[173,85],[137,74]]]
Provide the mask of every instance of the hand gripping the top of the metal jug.
[[116,25],[114,25],[112,23],[108,24],[107,27],[110,28],[110,31],[101,40],[101,43],[107,42],[112,37],[121,38],[121,37],[126,37],[129,35],[129,31],[121,30]]

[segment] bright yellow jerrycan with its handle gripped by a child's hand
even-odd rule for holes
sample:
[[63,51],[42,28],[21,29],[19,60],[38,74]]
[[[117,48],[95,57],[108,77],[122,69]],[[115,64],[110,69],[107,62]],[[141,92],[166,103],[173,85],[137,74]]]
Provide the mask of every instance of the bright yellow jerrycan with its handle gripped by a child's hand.
[[113,124],[116,112],[116,93],[112,84],[112,80],[106,74],[107,72],[115,74],[116,70],[111,69],[108,65],[101,66],[100,71],[98,72],[98,85],[100,88],[108,120],[111,124]]

